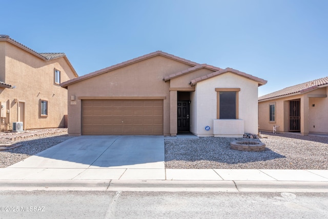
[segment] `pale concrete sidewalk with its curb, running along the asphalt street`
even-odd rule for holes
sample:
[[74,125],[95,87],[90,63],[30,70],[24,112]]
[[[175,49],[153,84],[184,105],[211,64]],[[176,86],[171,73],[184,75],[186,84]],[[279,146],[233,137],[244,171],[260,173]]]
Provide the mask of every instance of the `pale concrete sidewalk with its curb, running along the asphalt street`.
[[328,192],[328,170],[4,168],[0,190]]

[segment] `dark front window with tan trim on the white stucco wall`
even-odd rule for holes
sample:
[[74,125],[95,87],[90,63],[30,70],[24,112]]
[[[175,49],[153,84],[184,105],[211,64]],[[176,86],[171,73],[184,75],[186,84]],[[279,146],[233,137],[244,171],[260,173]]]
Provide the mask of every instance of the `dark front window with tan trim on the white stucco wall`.
[[240,88],[215,88],[217,92],[217,118],[238,119],[238,92]]

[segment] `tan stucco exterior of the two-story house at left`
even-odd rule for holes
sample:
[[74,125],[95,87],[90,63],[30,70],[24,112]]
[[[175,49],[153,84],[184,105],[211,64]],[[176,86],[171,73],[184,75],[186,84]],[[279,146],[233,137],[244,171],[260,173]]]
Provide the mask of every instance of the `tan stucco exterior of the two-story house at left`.
[[[50,60],[13,41],[0,38],[1,130],[12,130],[13,122],[24,129],[64,127],[67,115],[67,90],[55,84],[54,70],[60,81],[77,77],[66,57]],[[48,102],[48,115],[40,115],[40,100]]]

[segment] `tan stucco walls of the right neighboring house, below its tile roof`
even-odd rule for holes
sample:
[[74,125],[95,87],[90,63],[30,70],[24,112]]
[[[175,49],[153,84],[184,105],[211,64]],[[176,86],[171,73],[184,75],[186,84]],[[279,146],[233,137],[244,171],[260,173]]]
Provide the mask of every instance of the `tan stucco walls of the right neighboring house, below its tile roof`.
[[[286,95],[278,98],[271,98],[259,101],[259,130],[273,131],[273,126],[277,132],[289,132],[289,102],[293,100],[300,101],[300,133],[308,135],[309,133],[328,133],[328,87],[322,86],[318,89]],[[269,105],[275,104],[276,120],[269,120]]]

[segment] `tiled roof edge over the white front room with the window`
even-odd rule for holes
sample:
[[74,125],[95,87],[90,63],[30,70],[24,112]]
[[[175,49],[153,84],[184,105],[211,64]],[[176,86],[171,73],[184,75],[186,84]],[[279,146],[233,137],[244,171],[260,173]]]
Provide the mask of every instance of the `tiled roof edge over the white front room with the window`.
[[241,72],[241,71],[238,71],[238,70],[235,70],[235,69],[232,69],[232,68],[226,68],[226,69],[220,69],[219,71],[210,73],[210,74],[202,76],[202,77],[195,78],[190,82],[190,85],[194,86],[198,82],[204,81],[204,80],[209,79],[211,77],[214,77],[214,76],[217,76],[217,75],[220,75],[220,74],[224,74],[224,73],[227,73],[227,72],[231,72],[231,73],[234,73],[234,74],[249,78],[253,81],[256,81],[258,83],[258,86],[267,84],[267,81],[265,81],[264,79],[261,79],[259,77],[255,77],[253,75],[250,75],[250,74],[247,74],[245,72]]

